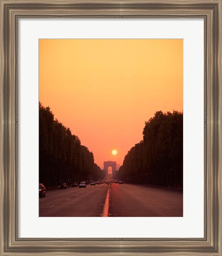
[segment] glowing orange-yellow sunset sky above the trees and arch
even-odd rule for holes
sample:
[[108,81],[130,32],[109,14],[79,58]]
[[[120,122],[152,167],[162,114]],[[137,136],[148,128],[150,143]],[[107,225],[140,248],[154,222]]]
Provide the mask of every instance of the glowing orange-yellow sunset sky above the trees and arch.
[[182,52],[182,39],[40,39],[39,100],[100,168],[122,165],[155,111],[182,111]]

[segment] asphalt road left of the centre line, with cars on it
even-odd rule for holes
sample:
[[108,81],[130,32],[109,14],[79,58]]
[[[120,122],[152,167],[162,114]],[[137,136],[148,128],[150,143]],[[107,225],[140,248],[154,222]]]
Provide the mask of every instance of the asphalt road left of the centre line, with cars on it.
[[46,191],[39,200],[40,217],[101,217],[108,190],[107,184],[86,188]]

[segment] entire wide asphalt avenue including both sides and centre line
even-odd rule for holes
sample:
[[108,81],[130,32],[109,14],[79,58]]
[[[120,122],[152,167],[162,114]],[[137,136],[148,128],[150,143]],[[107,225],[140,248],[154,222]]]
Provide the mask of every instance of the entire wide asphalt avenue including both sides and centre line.
[[182,217],[182,191],[116,183],[49,190],[39,199],[39,216]]

